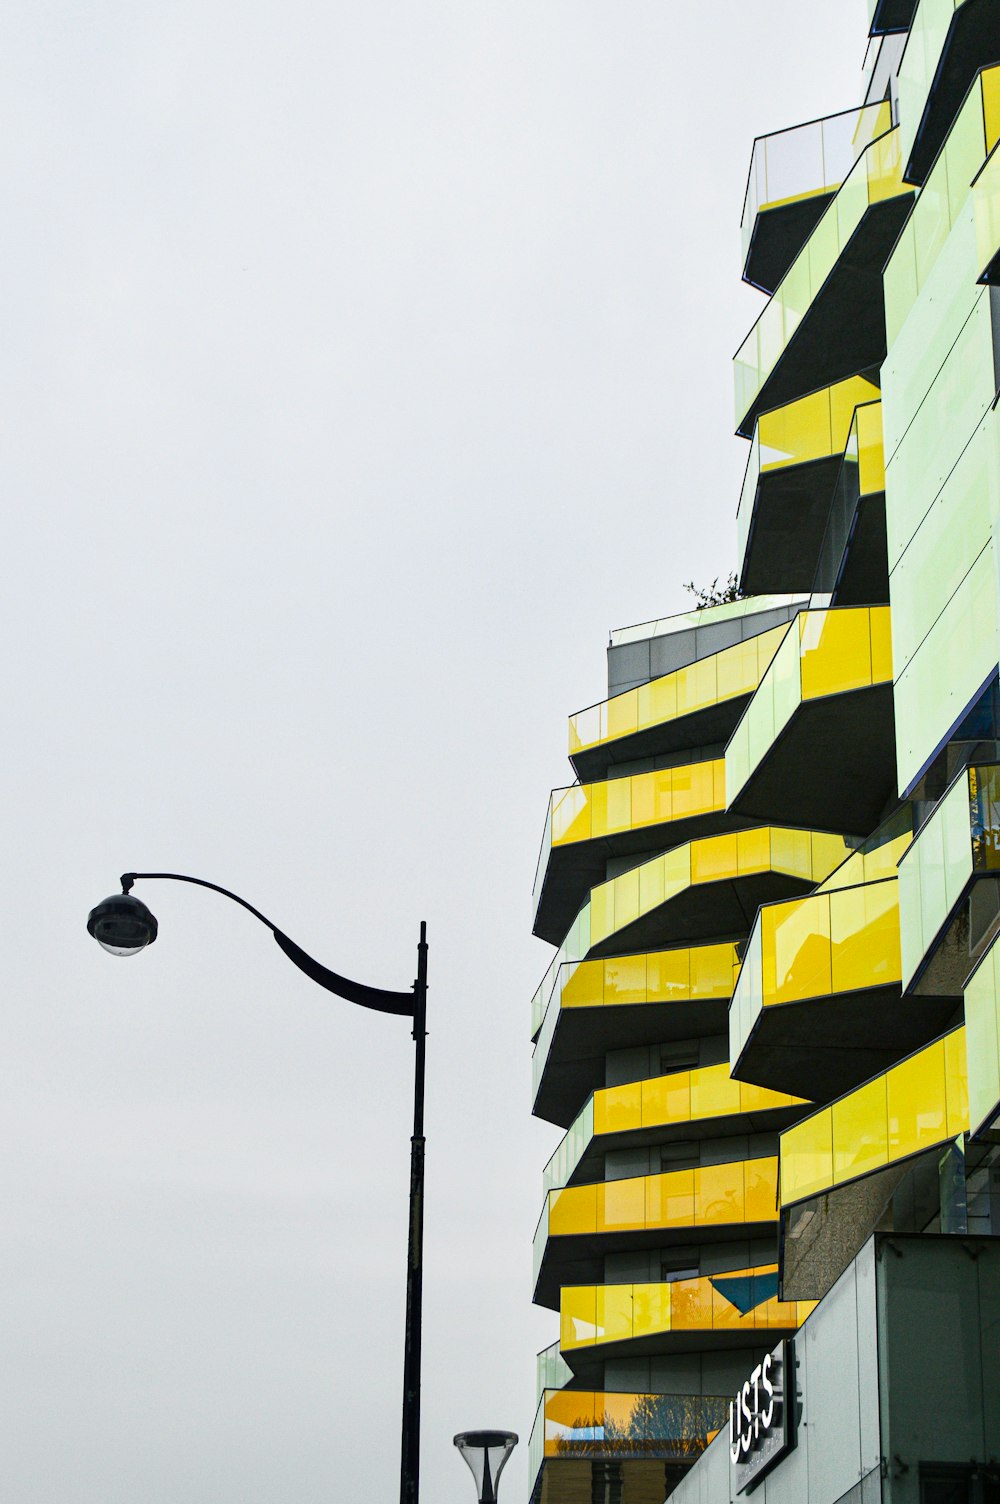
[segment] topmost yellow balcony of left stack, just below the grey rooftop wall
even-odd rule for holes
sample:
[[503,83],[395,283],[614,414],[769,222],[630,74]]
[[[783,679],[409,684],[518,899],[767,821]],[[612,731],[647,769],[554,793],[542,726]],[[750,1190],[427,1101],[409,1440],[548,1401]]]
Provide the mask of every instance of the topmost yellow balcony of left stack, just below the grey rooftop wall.
[[732,735],[788,623],[570,716],[570,763],[586,782],[615,763],[707,747]]

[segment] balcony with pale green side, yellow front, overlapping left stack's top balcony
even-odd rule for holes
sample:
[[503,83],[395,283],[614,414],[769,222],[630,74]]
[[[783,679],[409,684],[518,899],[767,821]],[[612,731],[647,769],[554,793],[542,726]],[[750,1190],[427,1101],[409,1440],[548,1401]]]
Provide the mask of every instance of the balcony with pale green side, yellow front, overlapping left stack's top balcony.
[[895,779],[889,608],[800,612],[726,747],[731,811],[866,836]]

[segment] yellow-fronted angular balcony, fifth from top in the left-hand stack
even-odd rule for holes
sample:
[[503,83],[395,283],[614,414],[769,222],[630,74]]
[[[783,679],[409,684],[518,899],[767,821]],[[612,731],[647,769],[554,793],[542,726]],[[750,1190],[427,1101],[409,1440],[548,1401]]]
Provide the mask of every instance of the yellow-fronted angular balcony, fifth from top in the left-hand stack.
[[600,1181],[605,1155],[617,1149],[653,1149],[659,1155],[662,1145],[681,1139],[779,1133],[811,1105],[786,1092],[734,1081],[728,1062],[606,1086],[588,1098],[567,1128],[541,1184],[555,1191]]

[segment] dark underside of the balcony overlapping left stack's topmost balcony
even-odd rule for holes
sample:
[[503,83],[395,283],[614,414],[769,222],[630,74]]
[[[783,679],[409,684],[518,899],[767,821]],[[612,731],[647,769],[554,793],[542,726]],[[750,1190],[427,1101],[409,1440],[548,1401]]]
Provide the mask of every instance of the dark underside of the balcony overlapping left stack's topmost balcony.
[[892,684],[803,699],[732,799],[746,820],[865,836],[895,794]]

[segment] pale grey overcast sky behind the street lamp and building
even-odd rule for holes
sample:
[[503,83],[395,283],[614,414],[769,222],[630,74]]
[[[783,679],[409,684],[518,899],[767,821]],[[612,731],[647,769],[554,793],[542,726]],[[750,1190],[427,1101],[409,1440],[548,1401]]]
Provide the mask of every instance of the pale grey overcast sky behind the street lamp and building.
[[608,629],[735,567],[755,134],[865,0],[8,0],[0,1492],[398,1489],[412,1044],[176,884],[408,987],[430,926],[423,1498],[520,1432],[529,935]]

